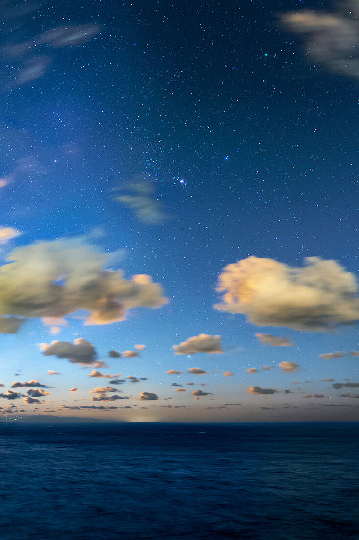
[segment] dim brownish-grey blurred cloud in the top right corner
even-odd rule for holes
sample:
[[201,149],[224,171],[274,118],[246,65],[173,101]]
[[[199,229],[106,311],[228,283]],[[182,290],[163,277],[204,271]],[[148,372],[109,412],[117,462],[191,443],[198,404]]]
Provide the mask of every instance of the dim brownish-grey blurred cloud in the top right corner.
[[[353,10],[351,11],[350,10]],[[357,3],[349,2],[340,11],[299,10],[281,15],[285,29],[306,35],[306,57],[329,71],[359,78],[359,24]]]

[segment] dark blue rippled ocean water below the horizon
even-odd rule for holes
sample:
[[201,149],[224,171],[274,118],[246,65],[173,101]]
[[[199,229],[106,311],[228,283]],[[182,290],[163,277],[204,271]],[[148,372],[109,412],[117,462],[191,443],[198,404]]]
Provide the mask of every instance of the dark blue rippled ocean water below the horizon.
[[356,423],[0,423],[7,539],[359,538]]

